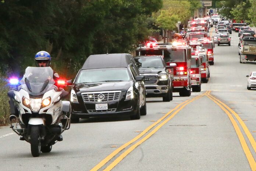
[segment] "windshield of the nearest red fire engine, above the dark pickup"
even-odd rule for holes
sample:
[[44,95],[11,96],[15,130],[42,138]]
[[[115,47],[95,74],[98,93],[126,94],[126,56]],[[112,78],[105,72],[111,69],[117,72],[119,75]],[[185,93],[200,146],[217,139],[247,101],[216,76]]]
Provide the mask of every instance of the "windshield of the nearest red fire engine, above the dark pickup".
[[185,62],[186,50],[185,49],[165,49],[164,60],[166,62]]

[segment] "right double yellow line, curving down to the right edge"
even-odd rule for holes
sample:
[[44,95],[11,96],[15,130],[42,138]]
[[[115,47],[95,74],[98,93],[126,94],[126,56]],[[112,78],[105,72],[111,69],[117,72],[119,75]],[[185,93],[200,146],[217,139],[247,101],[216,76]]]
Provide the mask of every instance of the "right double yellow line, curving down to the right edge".
[[230,121],[235,129],[235,132],[237,133],[237,136],[239,138],[239,141],[242,145],[243,151],[245,152],[245,155],[247,157],[247,160],[250,164],[250,167],[253,171],[256,171],[256,163],[255,160],[253,158],[253,155],[245,141],[245,138],[243,137],[243,134],[237,124],[237,122],[235,121],[234,117],[238,120],[239,124],[241,125],[243,131],[245,132],[248,140],[250,141],[250,144],[253,147],[254,153],[256,152],[256,143],[254,138],[252,137],[252,134],[250,133],[250,131],[248,130],[248,128],[246,127],[245,123],[243,122],[243,120],[239,117],[239,115],[233,111],[230,107],[228,107],[226,104],[224,104],[223,102],[221,102],[220,100],[218,100],[217,98],[213,97],[209,94],[206,94],[207,97],[209,97],[212,101],[214,101],[214,103],[216,103],[227,115],[228,118],[230,118]]

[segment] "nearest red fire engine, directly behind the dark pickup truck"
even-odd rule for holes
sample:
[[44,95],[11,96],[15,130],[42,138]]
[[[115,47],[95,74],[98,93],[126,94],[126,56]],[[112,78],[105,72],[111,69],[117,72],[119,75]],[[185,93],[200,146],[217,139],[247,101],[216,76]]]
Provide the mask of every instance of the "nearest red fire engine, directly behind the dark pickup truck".
[[147,45],[141,44],[136,50],[136,56],[163,55],[167,65],[174,67],[173,92],[180,96],[191,95],[191,48],[186,41]]

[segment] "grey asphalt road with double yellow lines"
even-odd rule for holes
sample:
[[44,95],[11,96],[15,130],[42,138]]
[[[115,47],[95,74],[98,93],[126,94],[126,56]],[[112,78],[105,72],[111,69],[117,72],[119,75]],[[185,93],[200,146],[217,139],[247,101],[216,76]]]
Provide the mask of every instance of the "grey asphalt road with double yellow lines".
[[256,65],[239,63],[238,33],[231,37],[230,47],[216,45],[200,93],[147,98],[140,120],[80,119],[40,157],[1,127],[0,170],[256,170],[256,91],[245,77]]

